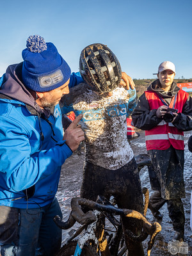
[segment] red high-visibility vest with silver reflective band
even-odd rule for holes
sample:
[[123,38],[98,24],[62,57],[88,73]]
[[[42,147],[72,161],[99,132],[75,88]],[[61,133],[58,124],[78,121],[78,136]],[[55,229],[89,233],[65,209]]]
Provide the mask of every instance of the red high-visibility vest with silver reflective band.
[[[154,92],[145,92],[145,96],[148,100],[150,110],[157,109],[163,106],[163,102],[159,96]],[[178,113],[182,113],[182,108],[188,99],[188,93],[179,90],[175,101],[175,109],[178,109]],[[169,108],[173,108],[173,102],[175,97],[172,98]],[[162,120],[156,127],[145,131],[145,142],[147,150],[160,149],[164,150],[171,145],[173,148],[184,150],[184,133],[177,129],[172,123],[166,123]]]

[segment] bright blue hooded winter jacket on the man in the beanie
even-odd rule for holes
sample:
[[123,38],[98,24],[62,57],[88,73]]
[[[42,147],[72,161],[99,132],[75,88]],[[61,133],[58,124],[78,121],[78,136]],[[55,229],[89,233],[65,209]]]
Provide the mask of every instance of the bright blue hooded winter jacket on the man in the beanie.
[[[9,66],[0,79],[0,205],[24,209],[52,202],[72,151],[62,140],[60,106],[40,109],[20,81],[21,67]],[[72,73],[69,86],[82,81]],[[27,202],[23,190],[33,185]]]

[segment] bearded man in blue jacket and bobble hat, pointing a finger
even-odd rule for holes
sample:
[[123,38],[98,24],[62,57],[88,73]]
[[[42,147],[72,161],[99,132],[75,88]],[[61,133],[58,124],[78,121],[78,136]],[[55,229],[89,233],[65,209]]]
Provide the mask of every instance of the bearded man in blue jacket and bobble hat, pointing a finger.
[[84,140],[76,127],[82,115],[63,136],[58,103],[83,79],[41,36],[29,36],[22,58],[0,80],[1,255],[54,255],[61,165]]

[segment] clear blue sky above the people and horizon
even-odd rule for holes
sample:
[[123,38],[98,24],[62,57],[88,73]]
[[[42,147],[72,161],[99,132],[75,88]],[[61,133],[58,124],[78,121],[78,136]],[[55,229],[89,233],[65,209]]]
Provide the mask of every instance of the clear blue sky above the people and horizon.
[[192,78],[191,0],[0,0],[0,76],[22,61],[29,35],[56,45],[72,71],[81,50],[102,43],[122,70],[136,79],[156,78],[159,64],[175,63],[176,76]]

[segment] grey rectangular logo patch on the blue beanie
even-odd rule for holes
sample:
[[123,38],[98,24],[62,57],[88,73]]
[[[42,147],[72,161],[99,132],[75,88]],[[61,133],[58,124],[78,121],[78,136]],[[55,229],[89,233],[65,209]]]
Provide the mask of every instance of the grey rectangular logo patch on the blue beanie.
[[61,81],[63,81],[63,74],[60,69],[47,76],[38,77],[38,82],[42,88],[49,87],[54,84],[58,84]]

